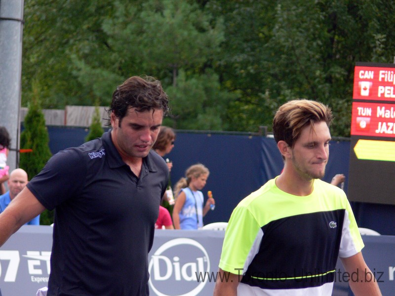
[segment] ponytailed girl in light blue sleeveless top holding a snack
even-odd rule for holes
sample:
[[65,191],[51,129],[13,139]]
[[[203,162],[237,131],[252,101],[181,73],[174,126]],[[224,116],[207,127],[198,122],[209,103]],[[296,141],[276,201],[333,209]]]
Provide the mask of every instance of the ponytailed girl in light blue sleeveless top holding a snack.
[[198,229],[203,227],[203,217],[215,204],[213,198],[208,198],[203,207],[203,189],[210,172],[198,163],[190,166],[185,172],[186,178],[181,178],[175,185],[176,202],[173,208],[173,223],[175,229]]

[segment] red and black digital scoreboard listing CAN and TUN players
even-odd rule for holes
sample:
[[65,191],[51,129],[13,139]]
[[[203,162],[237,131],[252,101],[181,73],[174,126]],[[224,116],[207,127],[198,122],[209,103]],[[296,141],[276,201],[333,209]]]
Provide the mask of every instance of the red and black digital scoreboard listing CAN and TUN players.
[[395,204],[395,64],[356,64],[348,196]]

